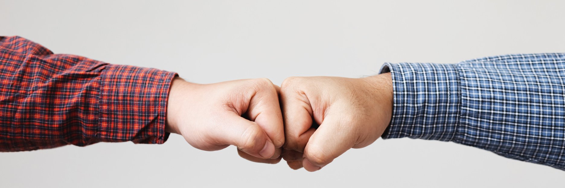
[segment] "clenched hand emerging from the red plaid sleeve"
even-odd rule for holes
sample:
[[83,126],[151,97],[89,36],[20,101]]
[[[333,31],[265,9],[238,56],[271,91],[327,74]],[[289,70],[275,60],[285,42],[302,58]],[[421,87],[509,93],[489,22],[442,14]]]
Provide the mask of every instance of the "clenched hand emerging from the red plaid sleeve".
[[240,156],[278,163],[284,143],[278,86],[266,78],[194,84],[175,78],[166,132],[200,150],[237,146]]

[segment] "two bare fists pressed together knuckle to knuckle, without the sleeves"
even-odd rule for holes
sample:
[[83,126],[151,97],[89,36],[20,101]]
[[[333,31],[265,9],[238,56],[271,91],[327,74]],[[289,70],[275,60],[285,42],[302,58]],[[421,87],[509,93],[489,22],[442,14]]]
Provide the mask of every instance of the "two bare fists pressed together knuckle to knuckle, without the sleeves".
[[383,134],[392,92],[390,73],[290,77],[280,88],[266,78],[216,84],[175,78],[166,131],[201,150],[234,145],[247,160],[275,164],[282,158],[290,168],[313,172]]

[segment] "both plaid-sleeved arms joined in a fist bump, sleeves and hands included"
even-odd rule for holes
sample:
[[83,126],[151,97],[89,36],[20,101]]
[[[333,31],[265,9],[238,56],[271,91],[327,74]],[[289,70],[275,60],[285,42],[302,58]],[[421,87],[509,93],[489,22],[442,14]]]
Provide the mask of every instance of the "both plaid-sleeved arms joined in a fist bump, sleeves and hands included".
[[[565,79],[555,76],[563,62],[565,53],[386,64],[383,72],[392,71],[390,66],[399,71],[393,95],[391,73],[290,77],[280,87],[267,78],[194,84],[174,72],[53,54],[25,38],[0,36],[0,90],[5,91],[0,107],[6,112],[0,113],[5,120],[0,151],[163,143],[167,132],[200,150],[234,145],[247,160],[275,164],[284,159],[290,168],[315,171],[350,148],[370,145],[390,128],[385,138],[452,141],[565,170],[565,120],[555,115],[565,111],[565,103],[553,98],[565,92],[546,89],[547,83],[565,87]],[[521,82],[508,82],[509,74]],[[528,81],[532,75],[545,81]],[[517,95],[524,92],[536,95]],[[402,116],[392,116],[394,100],[395,113]],[[531,114],[545,119],[531,119]],[[523,139],[528,143],[514,144]]]

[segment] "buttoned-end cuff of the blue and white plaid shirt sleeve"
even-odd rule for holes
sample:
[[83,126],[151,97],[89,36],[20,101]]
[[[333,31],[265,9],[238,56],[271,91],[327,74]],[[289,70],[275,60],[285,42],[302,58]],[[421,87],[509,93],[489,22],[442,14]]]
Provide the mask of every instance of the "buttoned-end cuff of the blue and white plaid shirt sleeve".
[[393,116],[384,139],[450,141],[460,114],[459,72],[454,64],[385,63],[393,81]]

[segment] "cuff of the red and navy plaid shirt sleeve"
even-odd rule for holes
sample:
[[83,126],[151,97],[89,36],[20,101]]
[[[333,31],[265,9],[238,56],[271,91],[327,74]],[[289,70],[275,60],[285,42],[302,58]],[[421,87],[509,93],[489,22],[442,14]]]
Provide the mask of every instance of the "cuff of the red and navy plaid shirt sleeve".
[[102,142],[164,143],[167,99],[174,72],[110,64],[101,73]]

